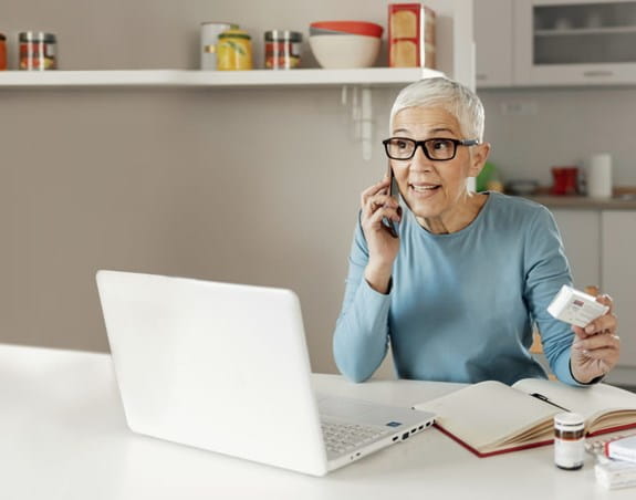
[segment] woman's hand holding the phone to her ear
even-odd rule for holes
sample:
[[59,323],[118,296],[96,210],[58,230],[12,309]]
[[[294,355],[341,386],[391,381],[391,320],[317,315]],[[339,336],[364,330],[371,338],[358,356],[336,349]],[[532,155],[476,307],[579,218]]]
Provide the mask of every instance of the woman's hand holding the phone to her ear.
[[383,217],[399,222],[402,208],[397,200],[387,195],[389,179],[365,189],[361,196],[362,230],[368,246],[368,263],[364,278],[377,292],[387,293],[393,262],[399,249],[399,238],[394,238],[382,223]]

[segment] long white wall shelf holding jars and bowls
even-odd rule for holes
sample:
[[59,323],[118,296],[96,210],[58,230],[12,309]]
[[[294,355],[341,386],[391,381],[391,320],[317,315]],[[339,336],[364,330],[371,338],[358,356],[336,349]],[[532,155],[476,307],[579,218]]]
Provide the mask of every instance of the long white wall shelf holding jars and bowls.
[[4,71],[0,72],[0,87],[390,86],[434,76],[444,76],[444,73],[420,67],[290,71]]

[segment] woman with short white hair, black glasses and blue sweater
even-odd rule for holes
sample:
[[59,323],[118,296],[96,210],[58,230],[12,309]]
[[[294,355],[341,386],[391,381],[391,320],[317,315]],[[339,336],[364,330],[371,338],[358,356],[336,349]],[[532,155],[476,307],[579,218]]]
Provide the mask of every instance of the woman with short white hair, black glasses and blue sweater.
[[535,322],[559,379],[586,385],[605,376],[619,354],[612,300],[597,298],[609,311],[585,329],[546,311],[572,283],[550,211],[467,189],[490,152],[479,97],[446,79],[416,82],[397,96],[390,131],[384,144],[400,202],[387,195],[388,177],[362,194],[334,333],[340,371],[368,378],[390,343],[402,378],[545,377],[528,351]]

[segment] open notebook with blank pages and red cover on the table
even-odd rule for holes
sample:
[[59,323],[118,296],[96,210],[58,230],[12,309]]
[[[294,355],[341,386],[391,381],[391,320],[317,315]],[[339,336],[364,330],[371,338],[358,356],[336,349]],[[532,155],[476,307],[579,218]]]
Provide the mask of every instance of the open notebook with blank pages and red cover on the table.
[[512,386],[488,381],[415,405],[438,415],[437,427],[480,457],[553,441],[554,415],[585,418],[587,435],[636,427],[636,394],[606,384],[572,387],[524,378]]

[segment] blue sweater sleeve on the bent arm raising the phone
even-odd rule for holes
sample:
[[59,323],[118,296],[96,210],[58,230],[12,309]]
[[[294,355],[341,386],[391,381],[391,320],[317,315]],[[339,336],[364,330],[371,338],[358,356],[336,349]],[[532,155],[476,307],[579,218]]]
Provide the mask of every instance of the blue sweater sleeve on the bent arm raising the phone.
[[364,279],[368,262],[366,239],[358,221],[348,259],[342,311],[333,336],[335,363],[351,381],[363,382],[382,364],[388,347],[390,294],[376,292]]

